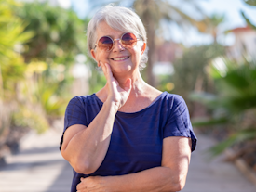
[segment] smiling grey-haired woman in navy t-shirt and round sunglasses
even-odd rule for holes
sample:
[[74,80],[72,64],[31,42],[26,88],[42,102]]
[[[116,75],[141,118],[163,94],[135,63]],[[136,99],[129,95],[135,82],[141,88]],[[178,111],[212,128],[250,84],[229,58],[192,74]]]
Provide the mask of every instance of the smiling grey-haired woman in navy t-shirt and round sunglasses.
[[141,78],[141,19],[126,7],[105,6],[87,34],[107,83],[66,109],[61,154],[74,168],[72,192],[182,190],[196,137],[182,97]]

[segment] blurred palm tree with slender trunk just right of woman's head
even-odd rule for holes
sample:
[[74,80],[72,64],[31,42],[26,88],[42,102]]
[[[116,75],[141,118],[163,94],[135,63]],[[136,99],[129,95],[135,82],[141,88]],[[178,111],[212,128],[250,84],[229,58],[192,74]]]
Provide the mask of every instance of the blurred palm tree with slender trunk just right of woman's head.
[[[182,3],[193,6],[198,12],[200,8],[195,4],[194,1],[182,0]],[[155,41],[156,31],[164,29],[161,25],[162,21],[165,23],[176,23],[180,27],[184,26],[195,26],[198,30],[199,27],[205,25],[202,21],[197,21],[191,16],[186,14],[180,7],[173,6],[167,0],[135,0],[133,7],[137,14],[141,17],[141,20],[147,31],[149,60],[147,63],[147,83],[155,85],[155,78],[153,75],[153,66],[155,63]],[[202,12],[201,12],[202,13]]]

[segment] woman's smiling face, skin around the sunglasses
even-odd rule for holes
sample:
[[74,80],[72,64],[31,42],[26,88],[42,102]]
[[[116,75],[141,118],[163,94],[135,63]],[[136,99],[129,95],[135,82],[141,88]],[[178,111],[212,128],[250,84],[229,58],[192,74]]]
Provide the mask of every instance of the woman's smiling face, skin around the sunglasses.
[[[112,39],[120,39],[124,33],[125,32],[112,29],[106,22],[103,21],[97,28],[96,42],[98,42],[102,36],[110,36]],[[97,60],[98,66],[99,61],[109,63],[112,72],[114,75],[117,75],[139,70],[141,56],[145,50],[145,47],[145,44],[141,47],[139,42],[137,42],[137,45],[134,47],[126,49],[121,45],[120,41],[115,41],[111,51],[97,48],[96,50],[91,50],[91,55]]]

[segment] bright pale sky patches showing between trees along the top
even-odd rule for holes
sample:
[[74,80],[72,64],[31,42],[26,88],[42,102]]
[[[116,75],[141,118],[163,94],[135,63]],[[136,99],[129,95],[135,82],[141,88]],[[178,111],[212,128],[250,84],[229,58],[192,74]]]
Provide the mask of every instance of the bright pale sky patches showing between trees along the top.
[[[90,15],[90,4],[92,0],[60,0],[63,4],[72,4],[74,10],[80,18]],[[199,1],[199,0],[198,0]],[[179,0],[170,0],[171,3],[177,4]],[[225,14],[226,21],[220,26],[220,32],[233,29],[236,27],[244,27],[246,22],[240,15],[240,10],[244,10],[249,19],[256,24],[256,6],[248,6],[242,0],[200,0],[200,6],[207,15],[212,13]],[[193,14],[193,13],[192,13]],[[195,30],[190,32],[181,32],[177,28],[173,28],[167,35],[168,39],[175,42],[182,42],[184,45],[207,44],[212,41],[210,35],[201,35]],[[234,36],[232,34],[224,36],[220,35],[218,41],[224,45],[232,45]]]

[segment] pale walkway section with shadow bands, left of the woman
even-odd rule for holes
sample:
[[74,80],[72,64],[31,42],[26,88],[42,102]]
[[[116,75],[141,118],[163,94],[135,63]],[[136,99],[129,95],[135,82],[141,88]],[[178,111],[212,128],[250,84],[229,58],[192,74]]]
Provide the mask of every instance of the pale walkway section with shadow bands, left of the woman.
[[73,171],[61,156],[60,138],[60,129],[22,138],[20,153],[0,167],[0,192],[69,192]]

